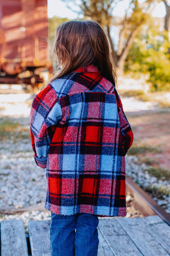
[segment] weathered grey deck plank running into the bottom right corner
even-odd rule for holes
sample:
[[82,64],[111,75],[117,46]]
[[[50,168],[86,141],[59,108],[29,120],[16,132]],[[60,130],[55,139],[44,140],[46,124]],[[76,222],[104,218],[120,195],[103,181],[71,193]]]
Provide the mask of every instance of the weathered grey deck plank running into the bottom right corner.
[[139,219],[140,217],[118,218],[117,221],[144,256],[168,256],[166,250],[153,238]]

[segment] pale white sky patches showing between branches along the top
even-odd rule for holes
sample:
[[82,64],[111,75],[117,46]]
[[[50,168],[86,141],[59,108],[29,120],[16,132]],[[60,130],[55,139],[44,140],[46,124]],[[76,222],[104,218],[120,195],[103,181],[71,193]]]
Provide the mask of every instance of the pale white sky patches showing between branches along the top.
[[[59,16],[61,18],[69,18],[69,19],[75,19],[77,18],[77,14],[74,11],[71,11],[67,9],[64,2],[61,0],[47,0],[48,5],[48,16],[49,18],[52,18],[54,15]],[[122,2],[119,2],[117,5],[117,8],[114,9],[114,13],[116,16],[123,16],[123,10],[128,7],[128,1],[123,0]],[[155,10],[153,11],[152,15],[154,17],[164,17],[166,14],[165,6],[163,2],[159,3]],[[79,18],[82,18],[79,16]]]

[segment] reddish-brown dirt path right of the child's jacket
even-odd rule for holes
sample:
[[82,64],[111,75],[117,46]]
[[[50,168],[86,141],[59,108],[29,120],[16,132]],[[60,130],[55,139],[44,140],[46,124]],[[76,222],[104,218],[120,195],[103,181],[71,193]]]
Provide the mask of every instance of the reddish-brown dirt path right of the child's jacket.
[[[170,170],[170,112],[145,111],[126,113],[134,132],[134,146],[148,146],[158,152],[139,154],[141,159],[150,158],[155,167]],[[152,150],[151,150],[152,151]],[[160,151],[160,152],[159,152]]]

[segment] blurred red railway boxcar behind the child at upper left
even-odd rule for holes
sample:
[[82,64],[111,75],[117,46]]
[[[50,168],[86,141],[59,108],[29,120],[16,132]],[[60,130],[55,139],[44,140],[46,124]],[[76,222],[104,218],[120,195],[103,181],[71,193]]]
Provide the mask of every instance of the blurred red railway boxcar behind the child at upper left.
[[37,67],[49,67],[47,45],[47,0],[0,0],[1,82],[11,76],[18,81],[17,74],[26,70],[33,77]]

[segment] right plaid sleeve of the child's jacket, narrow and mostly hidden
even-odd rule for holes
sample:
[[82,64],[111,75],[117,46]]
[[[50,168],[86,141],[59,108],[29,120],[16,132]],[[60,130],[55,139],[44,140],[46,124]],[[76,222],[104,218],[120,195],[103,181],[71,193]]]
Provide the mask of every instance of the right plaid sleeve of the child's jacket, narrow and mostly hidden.
[[133,132],[132,132],[132,128],[128,122],[128,119],[126,118],[125,113],[123,111],[123,105],[121,103],[121,98],[119,97],[119,94],[117,93],[116,89],[114,89],[114,91],[116,94],[119,122],[120,122],[120,126],[121,126],[121,132],[124,136],[124,150],[125,150],[125,154],[126,154],[133,142]]

